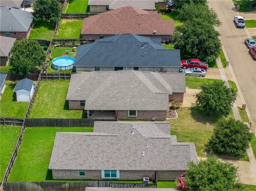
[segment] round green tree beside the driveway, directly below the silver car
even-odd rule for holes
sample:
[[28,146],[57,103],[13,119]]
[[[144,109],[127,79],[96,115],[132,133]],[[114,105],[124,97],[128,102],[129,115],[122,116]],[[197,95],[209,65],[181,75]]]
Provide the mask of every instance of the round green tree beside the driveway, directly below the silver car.
[[223,81],[203,83],[202,91],[196,94],[196,104],[205,114],[227,116],[236,100],[236,91]]

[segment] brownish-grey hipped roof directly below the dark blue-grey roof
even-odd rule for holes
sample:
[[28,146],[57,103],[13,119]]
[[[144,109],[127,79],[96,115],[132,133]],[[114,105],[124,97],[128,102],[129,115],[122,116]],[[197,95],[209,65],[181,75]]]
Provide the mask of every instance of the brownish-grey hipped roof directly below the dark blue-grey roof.
[[133,70],[98,71],[72,74],[66,100],[86,100],[86,110],[169,110],[168,95],[172,84],[182,84],[178,92],[186,92],[182,73],[162,73]]

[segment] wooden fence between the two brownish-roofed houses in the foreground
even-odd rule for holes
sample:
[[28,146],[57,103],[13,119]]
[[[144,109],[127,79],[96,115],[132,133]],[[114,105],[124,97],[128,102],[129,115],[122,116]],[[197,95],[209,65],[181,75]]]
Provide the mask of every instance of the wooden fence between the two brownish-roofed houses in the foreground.
[[94,121],[116,121],[116,119],[26,119],[26,127],[93,127]]

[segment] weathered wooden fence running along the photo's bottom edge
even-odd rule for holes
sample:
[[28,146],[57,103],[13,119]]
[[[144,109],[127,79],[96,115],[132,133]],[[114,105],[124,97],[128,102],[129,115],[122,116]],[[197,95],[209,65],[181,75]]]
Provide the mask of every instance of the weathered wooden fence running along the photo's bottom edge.
[[[122,186],[121,186],[122,185]],[[156,183],[84,182],[5,182],[4,191],[85,191],[86,187],[156,188]]]

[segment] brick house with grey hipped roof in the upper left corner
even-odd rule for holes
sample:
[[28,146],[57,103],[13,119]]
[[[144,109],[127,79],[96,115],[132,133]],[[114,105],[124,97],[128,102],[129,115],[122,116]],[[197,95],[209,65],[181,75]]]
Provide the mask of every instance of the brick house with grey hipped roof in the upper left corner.
[[0,35],[16,39],[28,38],[33,19],[30,12],[0,6]]

